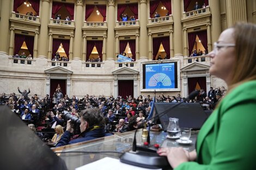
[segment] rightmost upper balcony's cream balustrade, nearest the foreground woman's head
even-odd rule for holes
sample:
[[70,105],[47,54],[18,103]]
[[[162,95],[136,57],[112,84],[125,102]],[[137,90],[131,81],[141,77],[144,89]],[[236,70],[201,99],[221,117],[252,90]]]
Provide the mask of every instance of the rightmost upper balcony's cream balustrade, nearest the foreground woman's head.
[[191,19],[196,19],[199,17],[205,17],[205,16],[210,16],[210,15],[211,15],[210,7],[207,6],[206,8],[183,12],[182,20],[191,20]]

